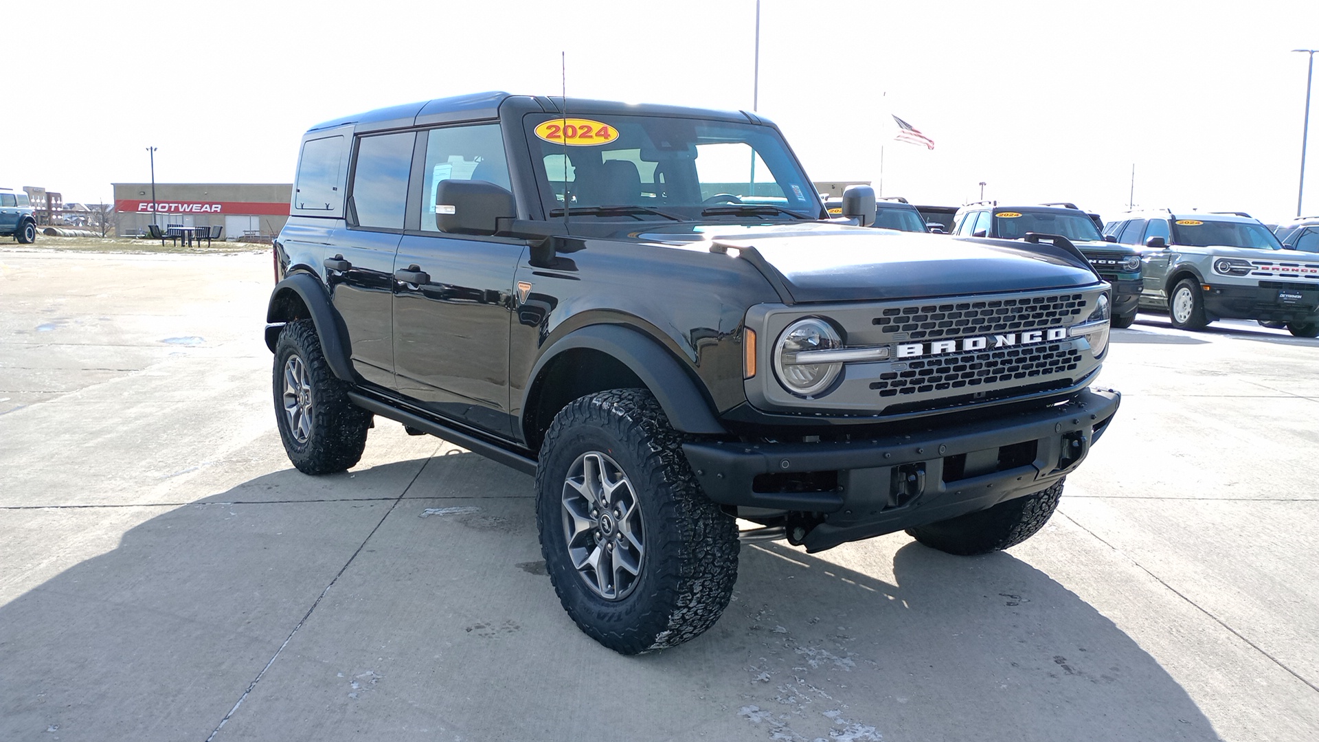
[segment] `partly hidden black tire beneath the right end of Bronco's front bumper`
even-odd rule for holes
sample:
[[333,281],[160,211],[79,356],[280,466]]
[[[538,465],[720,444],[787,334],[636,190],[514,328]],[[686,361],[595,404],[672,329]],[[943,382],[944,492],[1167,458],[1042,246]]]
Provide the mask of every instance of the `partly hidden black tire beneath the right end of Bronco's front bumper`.
[[989,510],[907,528],[922,544],[958,556],[998,552],[1025,541],[1045,527],[1063,495],[1063,479],[1053,487],[998,503]]

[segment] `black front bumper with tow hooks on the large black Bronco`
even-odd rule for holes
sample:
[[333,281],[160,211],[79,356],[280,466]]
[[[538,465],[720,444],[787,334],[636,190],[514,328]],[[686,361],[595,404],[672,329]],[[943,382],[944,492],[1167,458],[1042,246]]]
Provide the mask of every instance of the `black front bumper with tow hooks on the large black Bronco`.
[[711,500],[813,514],[819,552],[1038,492],[1089,453],[1117,412],[1113,389],[918,433],[814,444],[687,442]]

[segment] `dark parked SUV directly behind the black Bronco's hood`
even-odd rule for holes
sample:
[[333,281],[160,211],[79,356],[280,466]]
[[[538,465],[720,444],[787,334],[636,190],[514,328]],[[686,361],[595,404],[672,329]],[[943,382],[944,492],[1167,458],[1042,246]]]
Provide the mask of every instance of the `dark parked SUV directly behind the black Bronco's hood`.
[[1076,206],[1004,206],[969,203],[955,217],[954,234],[977,238],[1026,239],[1030,234],[1062,235],[1082,251],[1095,272],[1113,285],[1113,326],[1130,327],[1141,298],[1141,253],[1099,234],[1095,215]]

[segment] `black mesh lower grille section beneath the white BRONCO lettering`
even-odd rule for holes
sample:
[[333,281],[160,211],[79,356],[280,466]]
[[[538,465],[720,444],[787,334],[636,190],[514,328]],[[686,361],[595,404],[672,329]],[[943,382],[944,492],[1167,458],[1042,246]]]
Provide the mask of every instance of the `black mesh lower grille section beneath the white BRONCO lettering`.
[[911,360],[905,371],[880,374],[880,380],[871,382],[871,388],[877,389],[881,397],[939,392],[1053,376],[1075,371],[1079,363],[1080,353],[1071,343],[936,355]]

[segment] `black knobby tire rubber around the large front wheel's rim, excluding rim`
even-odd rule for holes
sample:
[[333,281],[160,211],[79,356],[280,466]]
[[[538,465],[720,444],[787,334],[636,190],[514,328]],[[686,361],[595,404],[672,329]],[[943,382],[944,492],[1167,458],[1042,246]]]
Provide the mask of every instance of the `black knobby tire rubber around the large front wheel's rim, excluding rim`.
[[[587,586],[565,533],[570,467],[592,453],[621,469],[644,528],[634,586],[617,599]],[[687,642],[714,626],[732,597],[736,520],[700,490],[682,453],[681,434],[646,389],[588,395],[554,417],[536,470],[536,525],[563,610],[583,632],[619,654]]]

